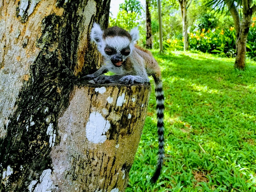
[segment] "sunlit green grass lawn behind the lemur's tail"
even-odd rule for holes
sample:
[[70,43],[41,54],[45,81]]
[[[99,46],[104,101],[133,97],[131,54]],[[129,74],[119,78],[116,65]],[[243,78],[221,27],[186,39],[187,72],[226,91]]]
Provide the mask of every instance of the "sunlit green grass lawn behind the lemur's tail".
[[256,63],[238,71],[234,59],[205,53],[154,56],[165,91],[163,173],[152,186],[158,147],[152,91],[126,192],[256,191]]

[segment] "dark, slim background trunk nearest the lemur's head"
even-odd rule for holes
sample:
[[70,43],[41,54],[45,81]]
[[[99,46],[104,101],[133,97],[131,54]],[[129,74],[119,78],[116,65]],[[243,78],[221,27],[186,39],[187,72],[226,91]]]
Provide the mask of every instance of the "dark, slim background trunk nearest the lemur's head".
[[146,48],[152,49],[151,14],[150,14],[149,7],[150,7],[150,0],[146,0],[146,25],[147,25]]

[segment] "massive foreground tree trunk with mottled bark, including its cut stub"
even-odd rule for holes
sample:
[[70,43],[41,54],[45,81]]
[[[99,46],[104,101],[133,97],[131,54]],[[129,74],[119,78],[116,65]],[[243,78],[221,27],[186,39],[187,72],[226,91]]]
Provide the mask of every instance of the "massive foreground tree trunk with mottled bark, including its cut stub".
[[[110,0],[0,0],[1,192],[126,187],[149,86],[105,86],[103,93],[103,86],[77,78],[100,66],[89,32],[94,21],[107,27],[109,6]],[[131,139],[134,146],[127,146]]]

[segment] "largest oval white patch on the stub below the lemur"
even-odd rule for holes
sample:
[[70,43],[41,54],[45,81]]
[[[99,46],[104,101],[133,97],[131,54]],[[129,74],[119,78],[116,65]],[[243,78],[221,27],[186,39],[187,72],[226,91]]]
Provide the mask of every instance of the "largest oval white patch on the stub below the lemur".
[[107,140],[106,132],[110,128],[110,123],[98,112],[90,114],[86,124],[86,138],[93,143],[104,143]]

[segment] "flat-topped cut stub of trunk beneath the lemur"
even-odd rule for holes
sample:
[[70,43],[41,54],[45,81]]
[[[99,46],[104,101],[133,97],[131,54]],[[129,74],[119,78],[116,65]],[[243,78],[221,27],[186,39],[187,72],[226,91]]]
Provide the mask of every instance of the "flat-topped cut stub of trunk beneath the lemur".
[[58,190],[125,191],[150,92],[150,84],[74,87],[58,120],[59,143],[54,144],[55,133],[49,141]]

